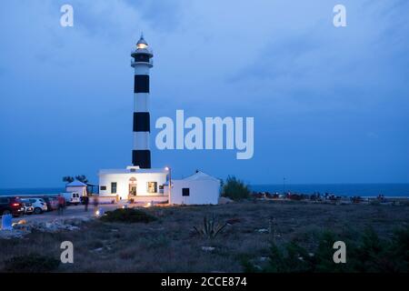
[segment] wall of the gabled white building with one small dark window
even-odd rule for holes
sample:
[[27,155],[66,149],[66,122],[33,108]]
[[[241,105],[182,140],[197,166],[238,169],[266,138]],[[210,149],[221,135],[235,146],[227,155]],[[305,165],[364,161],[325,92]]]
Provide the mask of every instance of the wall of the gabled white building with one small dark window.
[[[172,180],[170,204],[203,205],[219,202],[220,182],[214,180]],[[182,196],[182,188],[190,188],[190,196]],[[168,187],[165,187],[167,193]]]

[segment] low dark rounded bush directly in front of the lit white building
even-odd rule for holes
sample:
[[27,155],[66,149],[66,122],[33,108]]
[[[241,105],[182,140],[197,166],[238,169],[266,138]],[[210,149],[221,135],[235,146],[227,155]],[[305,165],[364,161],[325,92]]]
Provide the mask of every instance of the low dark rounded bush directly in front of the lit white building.
[[101,217],[105,222],[123,222],[123,223],[149,223],[155,221],[157,218],[151,216],[145,211],[135,208],[115,209],[114,211],[107,211],[105,216]]

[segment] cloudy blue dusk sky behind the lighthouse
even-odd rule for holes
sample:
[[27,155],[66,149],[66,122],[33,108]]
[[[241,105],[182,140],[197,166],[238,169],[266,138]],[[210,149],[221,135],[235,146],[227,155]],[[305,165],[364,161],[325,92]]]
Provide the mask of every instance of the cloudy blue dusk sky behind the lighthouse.
[[[60,7],[74,7],[62,27]],[[346,6],[335,28],[333,7]],[[0,187],[131,163],[133,70],[154,49],[160,116],[254,116],[254,157],[159,151],[175,176],[253,184],[409,182],[407,1],[3,1]]]

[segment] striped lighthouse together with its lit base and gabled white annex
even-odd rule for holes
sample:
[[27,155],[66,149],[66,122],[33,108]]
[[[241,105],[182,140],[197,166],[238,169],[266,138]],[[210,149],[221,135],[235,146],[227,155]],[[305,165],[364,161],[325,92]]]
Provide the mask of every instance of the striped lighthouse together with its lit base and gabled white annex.
[[172,182],[169,167],[151,167],[149,70],[154,66],[154,55],[143,35],[131,56],[131,66],[134,68],[132,166],[99,170],[100,201],[114,203],[115,200],[127,200],[128,203],[145,206],[156,203],[217,204],[220,192],[218,179],[196,172],[194,176]]

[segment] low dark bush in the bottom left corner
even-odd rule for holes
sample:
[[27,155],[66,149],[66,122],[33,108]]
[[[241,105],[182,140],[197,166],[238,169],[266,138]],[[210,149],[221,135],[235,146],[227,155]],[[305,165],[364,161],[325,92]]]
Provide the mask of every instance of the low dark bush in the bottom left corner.
[[5,271],[12,273],[52,272],[60,265],[60,260],[51,256],[14,256],[5,261]]

